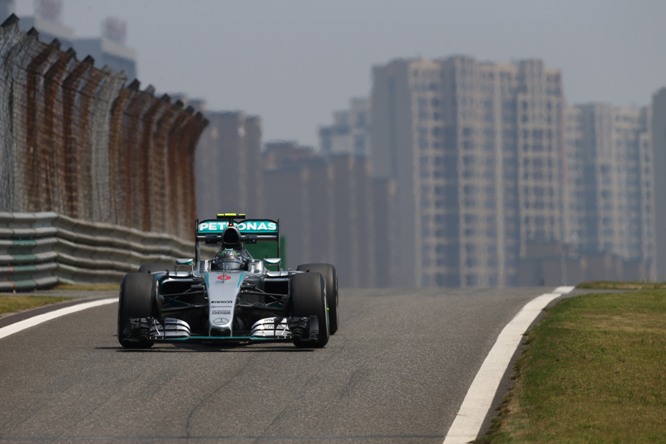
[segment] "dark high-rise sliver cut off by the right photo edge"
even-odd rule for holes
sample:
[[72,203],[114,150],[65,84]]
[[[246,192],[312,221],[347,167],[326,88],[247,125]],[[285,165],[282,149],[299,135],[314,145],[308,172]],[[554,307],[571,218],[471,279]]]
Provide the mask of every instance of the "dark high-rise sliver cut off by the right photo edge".
[[[654,160],[654,214],[655,227],[666,226],[666,174],[660,169],[666,165],[666,88],[652,95],[651,145]],[[666,281],[666,232],[655,230],[656,279]]]

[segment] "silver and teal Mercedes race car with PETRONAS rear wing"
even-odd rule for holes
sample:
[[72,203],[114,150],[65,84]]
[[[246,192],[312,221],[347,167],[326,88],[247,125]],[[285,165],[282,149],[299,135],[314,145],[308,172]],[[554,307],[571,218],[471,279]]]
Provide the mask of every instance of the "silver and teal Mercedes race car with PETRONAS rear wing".
[[[144,264],[124,276],[118,300],[120,345],[149,348],[159,342],[196,341],[326,346],[338,329],[333,265],[283,270],[277,220],[221,213],[195,225],[193,259]],[[275,244],[275,257],[254,258],[248,245],[266,242]],[[209,247],[202,249],[202,244]],[[211,249],[203,258],[202,250]]]

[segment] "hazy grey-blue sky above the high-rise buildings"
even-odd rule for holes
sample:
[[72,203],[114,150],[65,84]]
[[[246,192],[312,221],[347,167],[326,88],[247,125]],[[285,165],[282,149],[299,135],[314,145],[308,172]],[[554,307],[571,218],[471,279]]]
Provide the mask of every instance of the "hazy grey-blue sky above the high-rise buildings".
[[317,145],[395,58],[539,58],[569,104],[647,105],[666,86],[666,0],[63,0],[77,37],[107,16],[127,22],[143,87],[258,115],[264,141]]

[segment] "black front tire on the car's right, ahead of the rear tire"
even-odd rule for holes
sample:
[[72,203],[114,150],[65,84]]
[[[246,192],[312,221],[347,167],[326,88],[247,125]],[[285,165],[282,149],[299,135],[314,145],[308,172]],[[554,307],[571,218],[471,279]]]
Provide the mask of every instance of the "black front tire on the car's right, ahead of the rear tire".
[[319,335],[316,341],[294,338],[296,347],[321,348],[328,343],[329,322],[326,314],[324,278],[319,273],[295,274],[289,285],[290,315],[294,317],[317,317]]

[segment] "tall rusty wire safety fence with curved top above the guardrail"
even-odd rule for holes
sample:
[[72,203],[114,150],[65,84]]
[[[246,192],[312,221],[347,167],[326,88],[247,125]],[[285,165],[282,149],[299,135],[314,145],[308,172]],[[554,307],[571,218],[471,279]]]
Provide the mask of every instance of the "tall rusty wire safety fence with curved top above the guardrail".
[[[22,32],[15,16],[0,26],[0,212],[53,212],[58,224],[70,217],[192,239],[194,152],[207,120],[126,82],[57,40]],[[64,269],[74,241],[66,226],[49,229],[58,235],[37,239],[57,243]],[[42,258],[42,268],[52,266]]]

